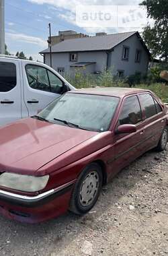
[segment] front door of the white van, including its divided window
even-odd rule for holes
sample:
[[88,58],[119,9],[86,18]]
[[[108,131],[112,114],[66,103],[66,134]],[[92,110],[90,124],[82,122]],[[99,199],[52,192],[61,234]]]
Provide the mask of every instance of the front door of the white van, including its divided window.
[[27,63],[23,71],[25,72],[24,102],[29,116],[32,116],[58,98],[65,87],[59,77],[42,65]]

